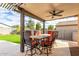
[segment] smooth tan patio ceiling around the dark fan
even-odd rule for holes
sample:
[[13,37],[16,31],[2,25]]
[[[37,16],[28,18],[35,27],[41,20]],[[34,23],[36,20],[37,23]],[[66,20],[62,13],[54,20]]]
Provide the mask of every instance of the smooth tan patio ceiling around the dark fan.
[[[78,3],[25,3],[20,5],[20,7],[29,12],[32,17],[37,17],[37,19],[40,18],[41,20],[55,20],[79,14]],[[64,12],[61,13],[62,16],[53,16],[54,18],[51,16],[47,17],[50,15],[48,11],[54,10],[54,8],[64,10]]]

